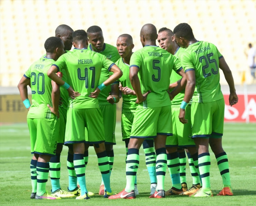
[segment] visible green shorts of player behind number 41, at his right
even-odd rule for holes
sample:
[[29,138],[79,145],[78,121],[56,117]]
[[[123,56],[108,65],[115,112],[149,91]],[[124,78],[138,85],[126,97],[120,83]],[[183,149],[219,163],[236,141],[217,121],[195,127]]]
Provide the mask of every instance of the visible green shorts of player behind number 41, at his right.
[[105,144],[115,145],[116,104],[104,104],[99,106],[103,116]]

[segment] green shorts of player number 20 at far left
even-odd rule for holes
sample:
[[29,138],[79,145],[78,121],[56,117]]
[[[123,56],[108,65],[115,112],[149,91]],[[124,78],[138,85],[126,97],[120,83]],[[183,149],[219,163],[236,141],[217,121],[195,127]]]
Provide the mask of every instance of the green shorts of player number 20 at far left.
[[30,133],[31,154],[55,156],[59,119],[27,119]]

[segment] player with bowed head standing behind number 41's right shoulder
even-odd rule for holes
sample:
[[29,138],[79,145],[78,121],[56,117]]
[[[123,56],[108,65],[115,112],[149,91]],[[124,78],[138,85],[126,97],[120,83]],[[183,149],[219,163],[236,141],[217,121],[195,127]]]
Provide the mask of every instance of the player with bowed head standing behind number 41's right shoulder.
[[[87,29],[89,39],[89,49],[91,51],[104,55],[107,59],[116,62],[119,59],[119,54],[116,47],[104,43],[102,30],[99,26],[91,26]],[[110,72],[102,68],[99,83],[103,83],[109,78]],[[103,116],[104,134],[105,134],[105,148],[108,154],[110,174],[114,163],[113,145],[115,141],[115,127],[116,127],[116,104],[119,101],[119,82],[116,81],[112,85],[106,87],[100,92],[98,96],[100,110]],[[86,151],[88,152],[88,151]],[[99,195],[104,195],[104,183],[101,180]]]

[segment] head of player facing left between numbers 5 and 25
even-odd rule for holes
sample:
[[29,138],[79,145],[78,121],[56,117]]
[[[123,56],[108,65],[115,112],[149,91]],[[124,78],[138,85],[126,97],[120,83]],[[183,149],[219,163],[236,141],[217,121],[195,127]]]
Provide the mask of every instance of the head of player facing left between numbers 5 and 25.
[[169,53],[171,53],[173,47],[176,48],[174,34],[172,30],[167,29],[166,27],[159,29],[157,41],[159,43],[159,46],[162,49],[167,50]]

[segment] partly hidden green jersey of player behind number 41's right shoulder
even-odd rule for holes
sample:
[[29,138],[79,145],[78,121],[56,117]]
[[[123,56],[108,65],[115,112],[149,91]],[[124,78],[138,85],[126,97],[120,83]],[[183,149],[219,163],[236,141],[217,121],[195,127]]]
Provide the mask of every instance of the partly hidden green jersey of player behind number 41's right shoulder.
[[[89,45],[89,48],[91,51],[93,51],[93,49],[91,48],[91,45]],[[117,48],[106,43],[104,43],[102,51],[99,51],[97,53],[104,55],[107,59],[113,62],[116,62],[120,58]],[[103,82],[105,82],[105,80],[108,79],[110,75],[111,73],[108,70],[105,70],[104,68],[102,68],[99,83],[102,84]],[[118,82],[114,82],[113,84],[118,84]],[[109,96],[110,92],[111,92],[111,85],[107,86],[105,89],[100,91],[100,94],[98,96],[99,104],[101,105],[109,104],[106,98]]]

